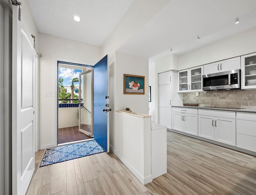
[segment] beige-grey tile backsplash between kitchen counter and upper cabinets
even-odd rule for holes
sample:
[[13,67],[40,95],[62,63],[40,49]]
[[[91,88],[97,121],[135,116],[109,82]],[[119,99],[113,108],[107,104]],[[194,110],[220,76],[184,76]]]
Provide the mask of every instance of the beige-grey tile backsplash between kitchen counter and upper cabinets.
[[183,103],[198,103],[201,106],[225,106],[256,108],[256,89],[223,90],[183,93]]

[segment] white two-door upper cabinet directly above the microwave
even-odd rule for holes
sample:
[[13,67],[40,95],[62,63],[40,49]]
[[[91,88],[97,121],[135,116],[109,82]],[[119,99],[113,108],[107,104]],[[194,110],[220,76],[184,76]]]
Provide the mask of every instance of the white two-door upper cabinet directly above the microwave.
[[204,75],[241,68],[240,57],[234,57],[204,65]]

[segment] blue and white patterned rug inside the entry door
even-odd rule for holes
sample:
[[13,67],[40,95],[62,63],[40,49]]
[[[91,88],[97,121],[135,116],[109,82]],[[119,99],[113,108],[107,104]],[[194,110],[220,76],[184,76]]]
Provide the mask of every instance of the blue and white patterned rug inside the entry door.
[[55,148],[46,149],[40,167],[101,152],[105,152],[105,150],[95,140],[66,146],[57,146]]

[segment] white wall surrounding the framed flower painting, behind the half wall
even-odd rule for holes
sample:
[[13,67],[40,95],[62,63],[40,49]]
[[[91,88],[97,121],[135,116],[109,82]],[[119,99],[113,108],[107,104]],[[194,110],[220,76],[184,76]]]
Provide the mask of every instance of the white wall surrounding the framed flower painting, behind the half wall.
[[[115,146],[118,121],[115,110],[130,108],[133,112],[148,114],[148,59],[116,52],[110,65],[110,145]],[[145,76],[145,95],[124,94],[124,74]],[[115,149],[115,148],[114,148]]]

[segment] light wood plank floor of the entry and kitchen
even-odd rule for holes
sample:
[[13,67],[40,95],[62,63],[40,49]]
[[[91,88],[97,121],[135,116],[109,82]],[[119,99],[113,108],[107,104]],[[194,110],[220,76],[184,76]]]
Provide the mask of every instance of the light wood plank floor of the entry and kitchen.
[[39,167],[27,195],[255,195],[256,157],[167,132],[168,173],[140,181],[112,153]]

